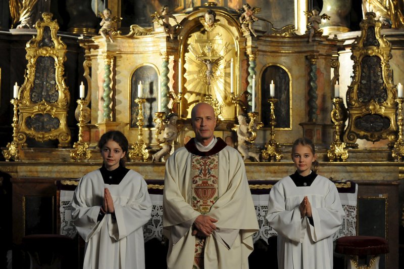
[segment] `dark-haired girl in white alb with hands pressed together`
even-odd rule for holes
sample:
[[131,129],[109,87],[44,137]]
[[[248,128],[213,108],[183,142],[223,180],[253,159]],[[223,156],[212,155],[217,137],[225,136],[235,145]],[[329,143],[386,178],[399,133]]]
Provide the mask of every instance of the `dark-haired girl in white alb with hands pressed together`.
[[101,168],[84,175],[74,192],[72,219],[84,239],[84,269],[145,268],[143,225],[151,201],[143,177],[124,166],[128,140],[108,131],[99,140]]

